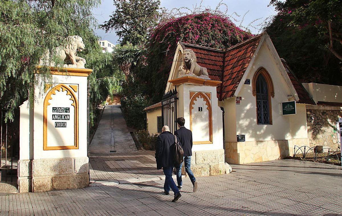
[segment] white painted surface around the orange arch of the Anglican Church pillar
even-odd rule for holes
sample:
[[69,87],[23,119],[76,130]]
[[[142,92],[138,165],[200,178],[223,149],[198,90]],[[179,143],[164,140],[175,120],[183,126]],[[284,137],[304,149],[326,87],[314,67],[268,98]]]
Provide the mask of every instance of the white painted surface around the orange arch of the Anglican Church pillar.
[[[53,86],[60,83],[78,84],[76,97],[78,98],[79,149],[43,150],[43,103],[44,98],[49,91],[44,93],[44,86],[38,85],[35,88],[34,103],[34,159],[87,157],[87,77],[52,75],[52,80]],[[49,116],[49,118],[51,117]],[[64,137],[63,134],[60,134],[57,137],[68,139],[68,137]],[[51,141],[51,139],[57,138],[51,136],[48,137],[49,141]]]

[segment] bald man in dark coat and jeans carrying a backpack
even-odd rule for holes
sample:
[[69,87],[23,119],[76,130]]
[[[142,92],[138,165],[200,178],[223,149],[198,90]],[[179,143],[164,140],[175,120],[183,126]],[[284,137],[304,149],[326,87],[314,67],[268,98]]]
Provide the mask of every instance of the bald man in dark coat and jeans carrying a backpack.
[[172,169],[174,166],[173,150],[175,147],[175,137],[170,132],[168,126],[163,126],[161,134],[157,138],[156,143],[156,162],[157,169],[163,168],[165,174],[164,193],[170,194],[170,188],[174,192],[174,199],[172,202],[176,202],[182,195],[179,192],[176,184],[172,178]]

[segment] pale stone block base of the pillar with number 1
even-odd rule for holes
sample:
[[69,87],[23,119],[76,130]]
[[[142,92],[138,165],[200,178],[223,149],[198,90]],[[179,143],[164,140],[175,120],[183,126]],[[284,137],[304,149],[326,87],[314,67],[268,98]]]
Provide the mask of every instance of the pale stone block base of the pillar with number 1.
[[[224,174],[224,150],[193,151],[191,170],[195,177]],[[184,165],[182,174],[185,175]]]

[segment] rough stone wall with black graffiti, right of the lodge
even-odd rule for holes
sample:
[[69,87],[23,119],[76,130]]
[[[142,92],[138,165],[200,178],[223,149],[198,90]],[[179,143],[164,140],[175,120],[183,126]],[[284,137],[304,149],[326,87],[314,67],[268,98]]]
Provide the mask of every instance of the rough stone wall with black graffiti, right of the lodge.
[[308,106],[306,119],[310,147],[320,145],[336,150],[339,146],[336,122],[340,117],[342,110],[337,110],[336,107]]

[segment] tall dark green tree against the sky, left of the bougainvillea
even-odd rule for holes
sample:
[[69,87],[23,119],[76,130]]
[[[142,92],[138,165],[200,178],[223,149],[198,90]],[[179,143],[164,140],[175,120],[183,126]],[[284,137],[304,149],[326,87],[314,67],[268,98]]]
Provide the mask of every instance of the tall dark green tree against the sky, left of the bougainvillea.
[[144,44],[147,33],[159,18],[159,0],[114,0],[115,11],[101,27],[106,32],[114,29],[121,44]]

